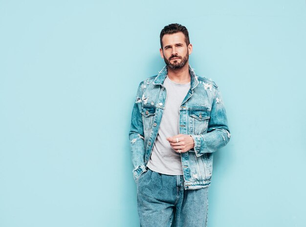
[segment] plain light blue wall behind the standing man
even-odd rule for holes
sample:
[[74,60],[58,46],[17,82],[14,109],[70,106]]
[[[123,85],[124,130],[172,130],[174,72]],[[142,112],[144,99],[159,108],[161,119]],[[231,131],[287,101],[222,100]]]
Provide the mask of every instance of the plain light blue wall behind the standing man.
[[232,134],[208,227],[305,226],[305,0],[0,0],[0,227],[138,226],[131,109],[169,23]]

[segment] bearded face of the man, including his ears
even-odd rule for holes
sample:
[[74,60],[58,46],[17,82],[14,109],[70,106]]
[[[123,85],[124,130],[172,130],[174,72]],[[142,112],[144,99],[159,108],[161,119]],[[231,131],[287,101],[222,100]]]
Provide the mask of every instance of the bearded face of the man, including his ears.
[[186,65],[189,54],[192,52],[192,45],[185,43],[185,35],[182,32],[166,34],[162,38],[163,48],[160,48],[160,56],[166,65],[177,69]]

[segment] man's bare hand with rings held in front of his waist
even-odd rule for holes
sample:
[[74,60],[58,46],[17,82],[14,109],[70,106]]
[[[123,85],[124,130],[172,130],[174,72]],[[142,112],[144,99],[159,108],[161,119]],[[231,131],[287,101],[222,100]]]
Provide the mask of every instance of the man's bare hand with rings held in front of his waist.
[[190,135],[178,134],[166,139],[177,153],[184,153],[195,147],[195,141]]

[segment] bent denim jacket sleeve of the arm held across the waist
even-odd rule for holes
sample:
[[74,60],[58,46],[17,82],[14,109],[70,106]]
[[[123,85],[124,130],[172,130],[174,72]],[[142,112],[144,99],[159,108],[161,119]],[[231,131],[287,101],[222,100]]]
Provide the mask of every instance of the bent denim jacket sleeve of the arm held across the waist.
[[230,140],[230,131],[227,126],[226,112],[218,87],[214,91],[210,119],[208,122],[207,133],[191,135],[195,141],[195,153],[197,157],[217,151],[225,146]]

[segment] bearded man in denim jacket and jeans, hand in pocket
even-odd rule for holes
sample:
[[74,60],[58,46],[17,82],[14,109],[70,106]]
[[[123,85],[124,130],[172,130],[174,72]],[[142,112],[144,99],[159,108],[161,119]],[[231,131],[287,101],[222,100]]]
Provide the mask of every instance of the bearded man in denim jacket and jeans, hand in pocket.
[[131,116],[131,158],[142,227],[204,227],[213,152],[230,131],[218,86],[189,66],[185,26],[160,33],[166,66],[139,84]]

